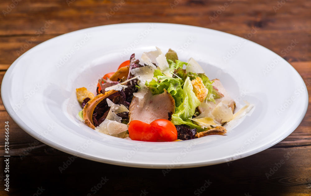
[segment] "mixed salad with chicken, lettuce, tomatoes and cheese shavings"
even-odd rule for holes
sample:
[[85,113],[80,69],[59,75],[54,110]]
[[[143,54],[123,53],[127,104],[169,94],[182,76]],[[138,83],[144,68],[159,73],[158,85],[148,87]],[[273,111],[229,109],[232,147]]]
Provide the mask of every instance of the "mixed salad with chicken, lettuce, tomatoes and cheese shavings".
[[174,50],[163,54],[157,47],[140,60],[132,54],[100,78],[96,96],[84,87],[76,93],[83,107],[79,120],[101,133],[139,141],[225,134],[224,124],[241,113],[233,114],[234,100],[193,58],[183,62]]

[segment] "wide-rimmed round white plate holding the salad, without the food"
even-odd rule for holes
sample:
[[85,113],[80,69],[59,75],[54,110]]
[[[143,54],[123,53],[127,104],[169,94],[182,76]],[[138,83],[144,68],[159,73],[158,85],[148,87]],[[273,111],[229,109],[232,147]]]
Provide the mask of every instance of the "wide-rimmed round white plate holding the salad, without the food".
[[[116,71],[132,53],[139,59],[155,46],[176,50],[183,61],[196,59],[210,79],[220,79],[237,108],[243,100],[256,105],[253,114],[225,135],[182,142],[114,138],[76,119],[82,109],[76,88],[95,94],[100,77]],[[1,96],[12,119],[47,145],[94,161],[145,168],[207,166],[261,152],[292,133],[308,106],[302,78],[272,51],[220,31],[163,23],[98,26],[45,41],[10,66]]]

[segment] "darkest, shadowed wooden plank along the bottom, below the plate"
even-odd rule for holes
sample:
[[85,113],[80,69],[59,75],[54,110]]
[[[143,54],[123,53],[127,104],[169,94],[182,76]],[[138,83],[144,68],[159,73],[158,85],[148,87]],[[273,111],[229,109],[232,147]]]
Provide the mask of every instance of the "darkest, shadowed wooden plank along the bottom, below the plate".
[[[72,158],[68,154],[27,156],[23,160],[10,157],[10,193],[33,195],[42,186],[44,195],[93,194],[91,188],[103,177],[109,180],[96,191],[99,195],[139,195],[141,190],[148,195],[197,195],[195,191],[206,181],[211,184],[202,195],[311,194],[311,147],[268,149],[233,162],[172,170],[129,168]],[[0,161],[4,162],[4,158]],[[68,167],[61,173],[59,167],[66,162]],[[270,174],[271,170],[274,173]],[[3,183],[0,189],[4,190]]]

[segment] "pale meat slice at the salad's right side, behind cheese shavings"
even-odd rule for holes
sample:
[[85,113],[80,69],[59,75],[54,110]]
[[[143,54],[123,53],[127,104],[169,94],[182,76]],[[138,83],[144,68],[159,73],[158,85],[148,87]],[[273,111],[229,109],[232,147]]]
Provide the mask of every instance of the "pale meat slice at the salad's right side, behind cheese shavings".
[[[209,103],[211,104],[211,108],[215,108],[216,105],[218,105],[221,101],[223,101],[223,103],[225,103],[226,105],[228,105],[228,107],[231,108],[232,112],[234,110],[235,107],[235,102],[234,100],[230,97],[230,95],[227,93],[227,91],[225,90],[224,86],[222,86],[221,82],[218,79],[214,79],[212,80],[213,82],[213,86],[216,87],[218,89],[218,91],[223,94],[223,97],[220,97],[218,99],[215,99],[216,104],[209,101]],[[205,108],[202,108],[202,106],[198,106],[198,110],[200,113],[202,113]]]

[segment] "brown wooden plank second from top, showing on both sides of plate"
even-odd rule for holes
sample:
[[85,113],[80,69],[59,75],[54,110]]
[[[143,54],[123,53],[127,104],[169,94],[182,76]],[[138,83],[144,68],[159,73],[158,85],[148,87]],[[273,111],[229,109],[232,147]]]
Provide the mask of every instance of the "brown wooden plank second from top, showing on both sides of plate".
[[[234,35],[244,37],[251,32],[252,28],[248,28],[248,31],[228,31],[228,33],[233,33]],[[311,41],[308,37],[310,35],[308,32],[295,32],[285,34],[280,37],[279,33],[266,33],[264,31],[258,30],[256,34],[252,35],[249,40],[261,44],[262,46],[272,50],[276,54],[285,58],[288,62],[310,62],[311,55],[309,55],[309,49],[311,47]],[[18,37],[0,37],[0,63],[1,64],[12,64],[21,54],[24,54],[30,48],[49,40],[55,35],[41,35],[39,37],[34,37],[34,41],[31,41],[33,35],[18,36]],[[292,40],[296,40],[297,45],[291,49],[288,53],[284,49],[290,47]],[[31,43],[31,44],[27,44]],[[24,49],[24,47],[27,47]]]

